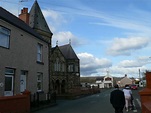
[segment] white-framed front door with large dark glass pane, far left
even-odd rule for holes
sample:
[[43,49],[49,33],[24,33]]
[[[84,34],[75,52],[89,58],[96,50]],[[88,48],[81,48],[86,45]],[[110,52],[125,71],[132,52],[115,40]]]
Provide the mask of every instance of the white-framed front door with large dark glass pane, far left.
[[4,96],[13,96],[13,75],[5,75],[5,91]]

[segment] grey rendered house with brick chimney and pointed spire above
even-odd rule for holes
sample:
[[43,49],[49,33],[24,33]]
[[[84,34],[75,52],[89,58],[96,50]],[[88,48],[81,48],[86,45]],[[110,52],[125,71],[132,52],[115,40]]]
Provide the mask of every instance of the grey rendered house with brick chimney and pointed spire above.
[[49,91],[52,33],[35,1],[19,18],[0,7],[0,95]]

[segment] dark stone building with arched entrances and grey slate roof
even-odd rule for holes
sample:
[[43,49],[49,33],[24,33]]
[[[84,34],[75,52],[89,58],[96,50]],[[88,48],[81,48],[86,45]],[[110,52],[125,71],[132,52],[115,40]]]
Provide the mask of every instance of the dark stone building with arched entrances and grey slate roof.
[[80,86],[80,61],[70,44],[52,48],[52,88],[57,94]]

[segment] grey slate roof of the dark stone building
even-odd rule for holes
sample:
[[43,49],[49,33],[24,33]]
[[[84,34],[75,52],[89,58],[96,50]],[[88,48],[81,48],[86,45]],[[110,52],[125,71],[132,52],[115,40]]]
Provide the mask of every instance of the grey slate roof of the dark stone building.
[[[77,57],[76,53],[74,52],[70,44],[63,45],[63,46],[56,46],[56,47],[59,48],[65,59],[79,60],[79,58]],[[52,48],[52,52],[55,50],[56,47]]]

